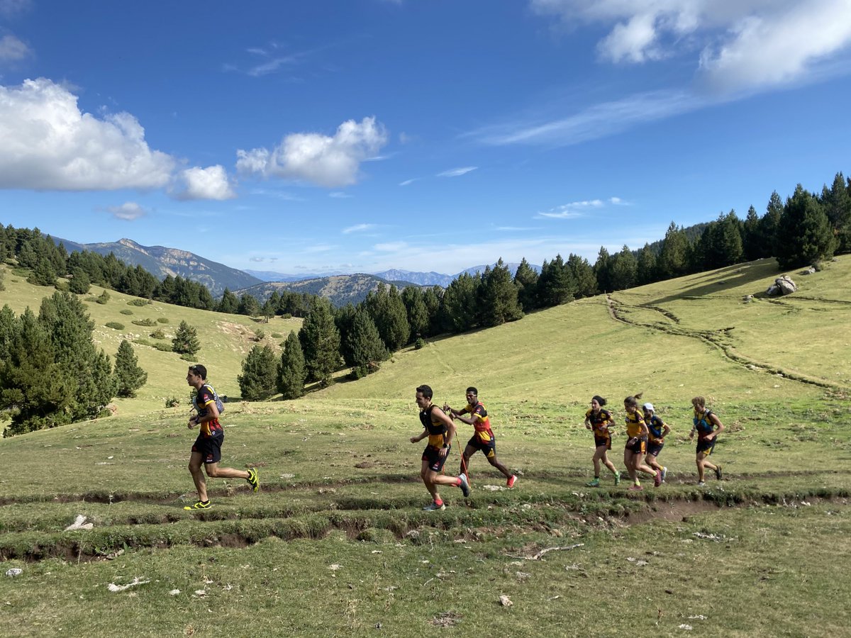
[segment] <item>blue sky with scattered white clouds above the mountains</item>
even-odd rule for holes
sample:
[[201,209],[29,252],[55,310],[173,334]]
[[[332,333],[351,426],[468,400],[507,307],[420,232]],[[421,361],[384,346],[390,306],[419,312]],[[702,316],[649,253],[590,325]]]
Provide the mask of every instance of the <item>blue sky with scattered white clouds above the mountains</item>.
[[0,0],[0,222],[240,269],[641,248],[848,175],[851,0]]

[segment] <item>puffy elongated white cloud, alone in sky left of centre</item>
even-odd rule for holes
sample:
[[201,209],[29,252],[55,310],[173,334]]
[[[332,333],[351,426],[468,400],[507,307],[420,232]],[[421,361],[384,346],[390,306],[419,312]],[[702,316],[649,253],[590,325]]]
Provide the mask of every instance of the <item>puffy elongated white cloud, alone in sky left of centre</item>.
[[387,143],[383,126],[374,117],[361,122],[347,120],[334,136],[318,133],[287,135],[275,148],[237,151],[237,169],[311,182],[328,188],[355,184],[361,162],[373,157]]

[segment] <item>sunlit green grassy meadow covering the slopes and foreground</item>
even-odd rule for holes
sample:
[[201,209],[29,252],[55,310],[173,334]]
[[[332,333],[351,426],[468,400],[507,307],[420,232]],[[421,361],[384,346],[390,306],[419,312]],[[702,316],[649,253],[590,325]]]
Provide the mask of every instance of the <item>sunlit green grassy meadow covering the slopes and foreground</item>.
[[[780,274],[762,260],[581,299],[397,352],[365,379],[340,371],[297,401],[229,402],[221,464],[257,468],[260,493],[210,480],[213,507],[195,512],[186,362],[134,343],[148,385],[114,416],[0,441],[0,633],[847,634],[851,256],[766,297]],[[23,280],[6,271],[0,292],[16,312],[52,292]],[[168,318],[168,339],[186,320],[234,398],[255,331],[280,350],[300,327],[110,294],[88,304],[101,347],[150,339],[134,319]],[[421,509],[409,437],[424,383],[453,407],[477,386],[516,487],[477,454],[469,498],[447,487],[446,510]],[[591,396],[620,421],[637,392],[671,425],[667,481],[629,493],[604,471],[586,487]],[[697,395],[726,426],[723,480],[704,488]],[[164,408],[169,396],[183,404]],[[609,453],[621,469],[624,442]],[[66,530],[82,516],[91,529]]]

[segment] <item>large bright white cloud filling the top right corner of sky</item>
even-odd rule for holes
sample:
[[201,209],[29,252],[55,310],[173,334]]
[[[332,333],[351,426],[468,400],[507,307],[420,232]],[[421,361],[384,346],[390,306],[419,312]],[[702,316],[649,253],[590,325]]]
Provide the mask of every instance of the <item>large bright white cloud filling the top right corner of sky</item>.
[[643,63],[694,54],[720,92],[801,81],[851,45],[851,0],[530,0],[540,14],[611,30],[603,60]]

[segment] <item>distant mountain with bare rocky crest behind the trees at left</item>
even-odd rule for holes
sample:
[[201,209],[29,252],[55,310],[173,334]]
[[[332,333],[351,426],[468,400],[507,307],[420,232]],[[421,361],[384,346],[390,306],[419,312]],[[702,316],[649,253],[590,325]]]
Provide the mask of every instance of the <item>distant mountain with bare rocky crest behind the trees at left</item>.
[[125,264],[140,265],[151,275],[160,279],[168,275],[181,276],[192,282],[203,284],[214,296],[223,293],[225,288],[231,290],[248,288],[260,282],[260,279],[248,273],[179,248],[142,246],[132,239],[120,239],[117,242],[77,243],[54,237],[54,241],[64,244],[68,252],[89,250],[105,256],[113,253]]

